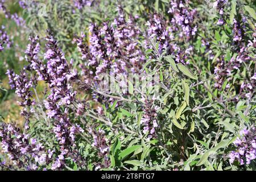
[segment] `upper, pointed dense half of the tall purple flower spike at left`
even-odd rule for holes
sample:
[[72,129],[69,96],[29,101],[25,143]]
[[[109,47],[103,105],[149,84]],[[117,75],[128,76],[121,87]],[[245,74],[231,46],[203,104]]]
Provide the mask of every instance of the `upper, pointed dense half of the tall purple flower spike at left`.
[[[44,78],[49,78],[46,81],[51,88],[51,94],[48,98],[56,104],[57,108],[61,105],[70,105],[76,92],[72,92],[72,86],[69,82],[75,80],[77,73],[68,66],[64,53],[57,46],[57,41],[52,36],[47,36],[46,40],[48,43],[44,59],[47,60],[46,68],[49,76],[44,76]],[[54,113],[57,112],[52,110],[49,117],[54,118]]]

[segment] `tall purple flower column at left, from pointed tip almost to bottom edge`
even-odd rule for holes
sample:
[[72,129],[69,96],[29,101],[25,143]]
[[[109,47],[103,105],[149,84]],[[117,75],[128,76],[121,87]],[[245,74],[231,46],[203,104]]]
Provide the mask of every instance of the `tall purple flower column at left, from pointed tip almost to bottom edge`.
[[81,156],[78,154],[75,144],[75,133],[82,131],[79,126],[73,125],[68,117],[68,108],[64,113],[61,106],[71,105],[75,100],[76,92],[72,91],[69,81],[76,78],[77,74],[68,67],[64,53],[57,46],[57,41],[53,36],[47,36],[46,53],[44,59],[47,60],[47,74],[44,76],[49,78],[46,80],[51,88],[48,99],[44,101],[44,105],[48,110],[48,117],[54,118],[53,132],[60,144],[61,154],[52,165],[52,169],[64,167],[65,156],[70,156],[76,162],[81,162]]

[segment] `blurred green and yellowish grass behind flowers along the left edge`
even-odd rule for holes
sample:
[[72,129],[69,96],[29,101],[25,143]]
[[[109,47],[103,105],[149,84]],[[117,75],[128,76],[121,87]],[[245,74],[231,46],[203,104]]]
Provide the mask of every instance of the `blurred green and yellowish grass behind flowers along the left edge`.
[[[17,13],[22,15],[22,9],[18,3],[13,0],[6,1],[7,9],[11,14]],[[5,90],[0,90],[0,114],[5,118],[6,122],[15,121],[18,126],[22,125],[23,118],[19,114],[20,106],[16,103],[17,98],[14,94],[15,90],[10,90],[9,79],[5,75],[7,69],[14,69],[18,72],[23,66],[24,50],[27,46],[27,38],[22,34],[14,20],[5,18],[5,15],[0,11],[0,24],[5,26],[5,30],[13,40],[13,46],[5,51],[0,52],[0,80]]]

